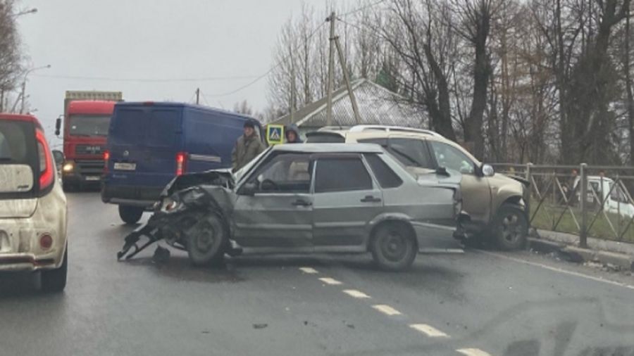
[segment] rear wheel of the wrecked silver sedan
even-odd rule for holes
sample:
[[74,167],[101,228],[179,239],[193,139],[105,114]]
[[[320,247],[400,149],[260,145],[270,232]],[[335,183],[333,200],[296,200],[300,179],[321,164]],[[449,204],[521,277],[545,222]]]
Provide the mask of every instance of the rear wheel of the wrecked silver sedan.
[[411,267],[418,253],[411,229],[395,222],[385,222],[375,229],[370,248],[377,265],[393,272]]

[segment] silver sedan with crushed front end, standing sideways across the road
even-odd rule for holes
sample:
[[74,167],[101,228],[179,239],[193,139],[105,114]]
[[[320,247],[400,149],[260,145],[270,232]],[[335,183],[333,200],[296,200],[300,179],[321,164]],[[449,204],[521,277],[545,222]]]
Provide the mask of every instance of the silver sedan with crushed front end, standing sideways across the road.
[[[416,174],[373,144],[268,148],[242,170],[185,174],[118,259],[164,240],[209,265],[259,253],[372,253],[383,269],[411,266],[425,239],[456,234],[460,174]],[[142,236],[149,239],[138,245]]]

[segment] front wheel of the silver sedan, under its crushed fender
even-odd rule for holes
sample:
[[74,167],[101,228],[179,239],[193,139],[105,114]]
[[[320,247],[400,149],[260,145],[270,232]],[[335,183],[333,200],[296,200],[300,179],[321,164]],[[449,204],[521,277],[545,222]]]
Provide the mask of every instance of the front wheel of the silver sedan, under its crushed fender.
[[223,218],[210,212],[187,229],[187,255],[195,266],[220,265],[229,241]]

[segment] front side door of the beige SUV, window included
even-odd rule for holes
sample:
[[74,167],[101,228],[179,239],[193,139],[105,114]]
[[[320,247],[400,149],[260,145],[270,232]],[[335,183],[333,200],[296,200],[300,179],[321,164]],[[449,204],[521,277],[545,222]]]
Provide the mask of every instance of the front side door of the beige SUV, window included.
[[476,164],[458,148],[445,142],[428,140],[436,164],[461,172],[462,209],[475,222],[488,222],[491,214],[491,189],[487,177],[477,174]]

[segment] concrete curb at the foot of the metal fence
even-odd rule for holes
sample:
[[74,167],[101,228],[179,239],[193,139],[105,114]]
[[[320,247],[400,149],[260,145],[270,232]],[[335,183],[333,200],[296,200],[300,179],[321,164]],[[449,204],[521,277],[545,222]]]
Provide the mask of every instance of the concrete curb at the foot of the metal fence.
[[535,238],[528,238],[528,242],[531,249],[541,253],[555,253],[559,258],[568,262],[600,262],[604,265],[615,265],[626,271],[634,272],[634,256],[625,253],[591,250]]

